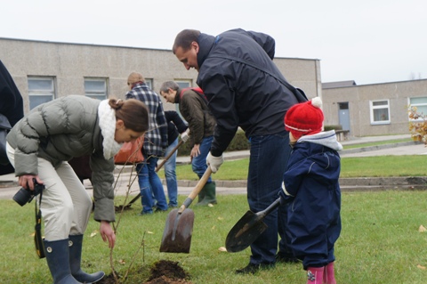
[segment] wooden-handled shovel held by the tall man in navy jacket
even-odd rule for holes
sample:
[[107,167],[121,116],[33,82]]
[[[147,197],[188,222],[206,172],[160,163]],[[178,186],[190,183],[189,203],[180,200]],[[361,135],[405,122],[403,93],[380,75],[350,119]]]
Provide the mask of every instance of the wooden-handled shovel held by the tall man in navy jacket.
[[180,208],[173,209],[166,217],[165,231],[163,232],[160,252],[164,253],[189,253],[191,235],[193,233],[194,212],[189,205],[196,199],[197,194],[203,189],[212,174],[208,166],[196,187],[189,193]]

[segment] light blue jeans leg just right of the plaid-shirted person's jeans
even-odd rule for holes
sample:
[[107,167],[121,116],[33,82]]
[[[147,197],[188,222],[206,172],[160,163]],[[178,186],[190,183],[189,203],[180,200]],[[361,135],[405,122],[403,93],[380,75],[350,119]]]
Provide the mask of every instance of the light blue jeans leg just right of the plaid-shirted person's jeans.
[[[178,138],[175,139],[165,151],[167,157],[171,151],[178,145]],[[178,183],[176,182],[176,155],[178,150],[175,150],[173,155],[165,162],[165,179],[167,185],[167,196],[169,198],[169,207],[178,206]]]

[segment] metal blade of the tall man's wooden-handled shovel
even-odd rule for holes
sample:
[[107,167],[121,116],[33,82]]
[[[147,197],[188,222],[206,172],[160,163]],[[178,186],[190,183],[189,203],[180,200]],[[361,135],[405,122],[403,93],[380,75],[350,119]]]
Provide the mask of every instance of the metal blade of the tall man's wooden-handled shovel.
[[188,254],[193,223],[193,210],[187,208],[180,213],[179,209],[173,209],[166,218],[160,252]]

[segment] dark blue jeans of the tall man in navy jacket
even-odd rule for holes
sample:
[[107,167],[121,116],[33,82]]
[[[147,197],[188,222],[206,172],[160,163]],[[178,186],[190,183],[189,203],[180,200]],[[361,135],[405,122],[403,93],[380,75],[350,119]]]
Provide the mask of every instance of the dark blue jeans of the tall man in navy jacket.
[[[249,172],[247,177],[247,201],[249,208],[254,212],[260,212],[269,207],[278,199],[278,191],[283,183],[287,160],[291,148],[289,146],[289,134],[284,130],[278,134],[252,136],[249,160]],[[280,208],[282,209],[282,208]],[[286,227],[286,210],[274,210],[264,218],[268,228],[251,245],[252,264],[274,264],[278,250],[278,228]],[[281,238],[285,239],[284,231],[280,231]],[[289,242],[283,241],[281,247]],[[289,250],[290,251],[290,250]]]

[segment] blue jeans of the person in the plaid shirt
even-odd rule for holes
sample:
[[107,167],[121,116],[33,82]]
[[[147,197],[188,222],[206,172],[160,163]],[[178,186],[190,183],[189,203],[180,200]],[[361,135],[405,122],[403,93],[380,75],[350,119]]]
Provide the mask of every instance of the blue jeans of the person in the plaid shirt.
[[155,156],[146,157],[144,161],[136,165],[138,173],[138,183],[140,184],[142,214],[153,212],[154,198],[157,200],[158,210],[167,210],[167,203],[163,184],[156,173],[158,158]]

